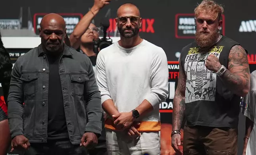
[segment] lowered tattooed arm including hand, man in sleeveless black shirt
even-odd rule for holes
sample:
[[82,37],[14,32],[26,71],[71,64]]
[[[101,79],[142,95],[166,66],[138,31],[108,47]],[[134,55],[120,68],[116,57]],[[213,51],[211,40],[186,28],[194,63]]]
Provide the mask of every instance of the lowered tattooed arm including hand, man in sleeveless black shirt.
[[[186,90],[186,74],[182,67],[180,59],[179,63],[178,85],[173,98],[173,131],[180,131],[182,123],[185,121],[185,90]],[[175,133],[172,135],[172,146],[176,152],[182,152],[178,148],[181,145],[181,135]]]

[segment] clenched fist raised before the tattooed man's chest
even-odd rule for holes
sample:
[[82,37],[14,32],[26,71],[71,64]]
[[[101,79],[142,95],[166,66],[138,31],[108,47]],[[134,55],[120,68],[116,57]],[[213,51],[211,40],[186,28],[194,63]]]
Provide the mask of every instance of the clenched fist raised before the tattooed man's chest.
[[213,54],[210,54],[208,56],[208,58],[206,59],[205,66],[208,70],[211,70],[215,73],[218,72],[219,68],[221,68],[221,64],[219,63],[219,59]]

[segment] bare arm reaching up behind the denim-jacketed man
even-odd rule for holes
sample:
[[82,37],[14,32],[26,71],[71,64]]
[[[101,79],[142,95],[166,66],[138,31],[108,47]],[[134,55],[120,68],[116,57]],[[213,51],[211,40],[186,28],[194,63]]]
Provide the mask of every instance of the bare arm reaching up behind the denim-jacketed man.
[[70,35],[70,45],[74,49],[78,49],[80,46],[80,39],[81,36],[85,33],[88,29],[91,21],[95,17],[95,15],[99,12],[103,6],[110,3],[111,0],[94,0],[93,7],[83,16],[83,18],[79,21],[76,25],[74,31]]

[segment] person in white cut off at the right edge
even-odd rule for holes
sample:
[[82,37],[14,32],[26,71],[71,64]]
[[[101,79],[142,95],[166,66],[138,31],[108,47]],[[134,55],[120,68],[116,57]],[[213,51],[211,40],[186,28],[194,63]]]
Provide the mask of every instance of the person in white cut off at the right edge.
[[250,91],[241,101],[241,112],[246,116],[242,155],[256,155],[256,70],[251,73]]

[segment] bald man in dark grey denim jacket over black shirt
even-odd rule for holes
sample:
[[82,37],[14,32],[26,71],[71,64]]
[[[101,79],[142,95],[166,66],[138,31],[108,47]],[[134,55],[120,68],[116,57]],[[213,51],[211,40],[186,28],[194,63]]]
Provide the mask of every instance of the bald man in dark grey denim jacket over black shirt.
[[64,43],[66,24],[60,15],[45,15],[39,32],[41,44],[20,56],[12,71],[12,146],[25,155],[86,155],[102,131],[91,61]]

